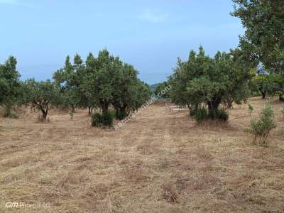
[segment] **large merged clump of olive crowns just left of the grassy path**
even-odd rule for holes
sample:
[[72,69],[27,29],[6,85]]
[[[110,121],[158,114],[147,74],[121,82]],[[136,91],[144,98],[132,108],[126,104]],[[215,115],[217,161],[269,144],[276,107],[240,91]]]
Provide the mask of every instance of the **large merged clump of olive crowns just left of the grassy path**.
[[137,75],[132,65],[104,49],[97,58],[89,53],[85,63],[80,55],[75,55],[72,65],[67,56],[65,67],[55,72],[53,79],[60,87],[63,105],[70,105],[72,109],[88,107],[89,114],[99,108],[106,116],[112,106],[116,118],[124,119],[151,96],[148,84],[138,80]]

